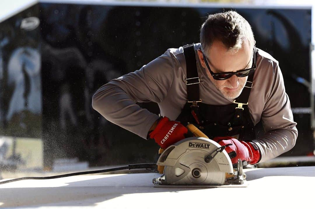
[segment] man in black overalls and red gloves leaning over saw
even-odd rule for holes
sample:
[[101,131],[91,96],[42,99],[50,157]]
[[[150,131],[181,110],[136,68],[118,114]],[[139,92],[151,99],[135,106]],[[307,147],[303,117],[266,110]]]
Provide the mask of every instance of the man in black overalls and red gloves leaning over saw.
[[[136,102],[153,101],[159,117]],[[188,136],[192,123],[220,145],[232,163],[264,162],[289,151],[296,123],[278,61],[256,49],[249,23],[237,12],[209,15],[200,44],[162,56],[103,85],[93,108],[162,148]],[[255,133],[261,124],[264,134]]]

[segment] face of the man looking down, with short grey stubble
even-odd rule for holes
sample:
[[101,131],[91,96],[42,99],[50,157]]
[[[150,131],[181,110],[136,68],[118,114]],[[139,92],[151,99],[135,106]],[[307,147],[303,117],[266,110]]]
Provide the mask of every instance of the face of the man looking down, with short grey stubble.
[[[207,61],[214,73],[236,72],[252,66],[253,49],[249,46],[248,41],[243,41],[242,48],[238,51],[227,51],[221,41],[214,41],[208,54]],[[201,50],[198,50],[198,56],[209,79],[226,99],[237,98],[242,93],[248,76],[233,75],[226,80],[215,80],[204,62]]]

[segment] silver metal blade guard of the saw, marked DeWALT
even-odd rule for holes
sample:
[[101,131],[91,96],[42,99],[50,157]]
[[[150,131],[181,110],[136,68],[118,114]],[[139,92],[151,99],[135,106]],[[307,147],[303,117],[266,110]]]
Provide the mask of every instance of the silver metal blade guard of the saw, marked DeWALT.
[[169,146],[157,165],[165,166],[163,184],[223,185],[226,173],[233,174],[232,162],[225,150],[216,152],[207,163],[205,158],[221,146],[207,138],[190,137]]

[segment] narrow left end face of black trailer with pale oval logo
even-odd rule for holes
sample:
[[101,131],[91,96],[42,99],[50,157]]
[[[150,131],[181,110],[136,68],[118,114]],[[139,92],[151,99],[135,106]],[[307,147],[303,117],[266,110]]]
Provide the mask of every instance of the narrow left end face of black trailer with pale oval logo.
[[42,137],[39,6],[0,24],[0,135]]

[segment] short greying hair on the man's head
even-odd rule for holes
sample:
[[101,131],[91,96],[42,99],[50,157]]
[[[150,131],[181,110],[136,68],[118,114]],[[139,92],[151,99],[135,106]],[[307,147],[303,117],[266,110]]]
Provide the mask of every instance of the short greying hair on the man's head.
[[255,45],[253,31],[249,23],[235,11],[210,14],[202,24],[200,43],[201,50],[205,55],[208,55],[215,40],[221,41],[227,50],[238,51],[244,40],[248,40],[252,47]]

